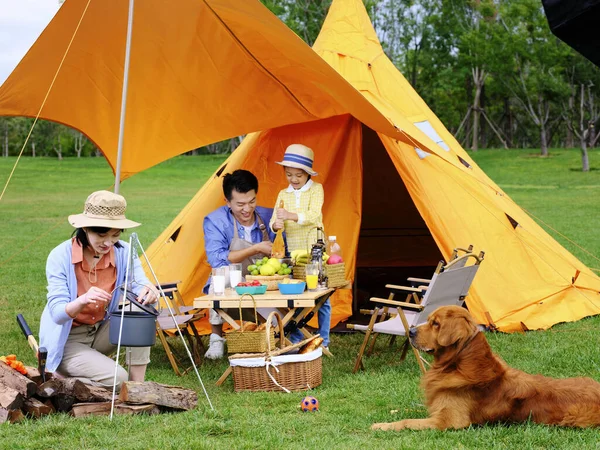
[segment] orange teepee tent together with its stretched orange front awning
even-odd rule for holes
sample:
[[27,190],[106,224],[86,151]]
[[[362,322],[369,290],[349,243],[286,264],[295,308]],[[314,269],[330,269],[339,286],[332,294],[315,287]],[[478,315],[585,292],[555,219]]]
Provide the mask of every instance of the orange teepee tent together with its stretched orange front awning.
[[[124,3],[84,12],[67,0],[0,87],[0,114],[37,114],[83,17],[41,116],[84,132],[114,167]],[[385,56],[360,0],[333,1],[314,51],[254,0],[145,0],[135,17],[124,177],[255,131],[148,249],[160,279],[183,280],[186,301],[208,277],[200,230],[222,205],[221,175],[253,171],[259,204],[273,206],[285,184],[274,162],[301,142],[315,150],[348,279],[433,266],[474,244],[486,258],[467,305],[481,323],[515,331],[600,313],[600,279],[475,165]],[[338,295],[334,320],[350,306],[350,292]]]

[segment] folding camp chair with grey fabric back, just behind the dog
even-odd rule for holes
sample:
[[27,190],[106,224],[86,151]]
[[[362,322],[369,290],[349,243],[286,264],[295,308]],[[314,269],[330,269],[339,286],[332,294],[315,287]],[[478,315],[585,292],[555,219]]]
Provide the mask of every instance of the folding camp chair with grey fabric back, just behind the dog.
[[[425,323],[427,316],[440,306],[462,306],[475,274],[479,269],[479,265],[484,258],[484,252],[480,252],[477,256],[466,250],[462,251],[466,253],[461,256],[455,255],[456,257],[446,265],[444,265],[443,261],[440,261],[431,280],[412,279],[418,280],[419,283],[423,283],[422,285],[418,287],[405,287],[388,284],[386,287],[391,291],[389,298],[373,297],[370,299],[376,303],[376,306],[372,311],[369,324],[348,325],[348,328],[365,331],[366,333],[354,364],[353,373],[357,372],[360,368],[364,368],[362,359],[364,351],[369,345],[369,339],[375,339],[379,333],[389,334],[393,337],[406,337],[402,348],[402,356],[400,357],[402,361],[406,357],[408,347],[410,346],[407,333],[410,327]],[[473,264],[467,266],[467,261],[471,259],[474,260]],[[407,295],[406,301],[399,302],[393,300],[394,295],[399,293]],[[390,311],[390,306],[395,307],[395,310]],[[390,316],[391,318],[388,318]],[[378,317],[382,317],[384,320],[377,322]],[[374,342],[371,345],[369,354],[373,350],[373,346]],[[419,368],[424,373],[423,358],[414,347],[413,352],[417,358]]]

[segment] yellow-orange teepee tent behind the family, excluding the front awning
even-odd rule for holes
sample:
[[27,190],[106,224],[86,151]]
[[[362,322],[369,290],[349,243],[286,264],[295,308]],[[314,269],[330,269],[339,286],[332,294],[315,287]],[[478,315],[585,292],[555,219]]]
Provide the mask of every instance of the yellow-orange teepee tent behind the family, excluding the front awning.
[[[453,247],[472,243],[486,252],[467,298],[480,323],[539,329],[600,312],[600,279],[477,167],[385,56],[360,0],[333,1],[313,49],[385,117],[412,125],[403,128],[409,139],[339,115],[253,133],[217,174],[253,171],[259,203],[274,206],[284,185],[274,162],[287,145],[304,143],[316,153],[325,229],[349,256],[348,279],[361,267],[435,266]],[[423,151],[418,131],[435,147]],[[183,276],[188,298],[208,276],[198,230],[221,198],[215,175],[150,248],[165,278]],[[334,321],[347,317],[349,293],[333,309]]]

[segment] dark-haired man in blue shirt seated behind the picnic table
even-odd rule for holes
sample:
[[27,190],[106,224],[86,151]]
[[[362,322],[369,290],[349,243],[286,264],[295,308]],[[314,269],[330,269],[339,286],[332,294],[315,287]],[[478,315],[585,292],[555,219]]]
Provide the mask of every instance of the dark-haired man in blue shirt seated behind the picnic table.
[[[274,238],[268,224],[273,210],[256,206],[258,180],[247,170],[236,170],[223,177],[223,194],[226,205],[204,218],[204,247],[212,268],[242,264],[242,273],[253,258],[271,255]],[[210,282],[210,280],[209,280]],[[209,283],[204,288],[208,292]],[[210,311],[210,345],[205,357],[222,358],[225,339],[223,319]]]

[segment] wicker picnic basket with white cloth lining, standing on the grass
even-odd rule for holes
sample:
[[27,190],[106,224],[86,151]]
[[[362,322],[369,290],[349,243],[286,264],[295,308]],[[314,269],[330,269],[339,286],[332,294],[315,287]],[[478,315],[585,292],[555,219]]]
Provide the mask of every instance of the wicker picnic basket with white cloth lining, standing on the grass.
[[[236,392],[303,391],[319,386],[323,382],[322,348],[303,355],[282,354],[293,347],[306,344],[317,336],[283,348],[285,339],[283,324],[281,316],[276,311],[269,314],[267,329],[271,328],[273,317],[277,317],[279,323],[281,350],[275,350],[274,346],[268,344],[268,350],[263,354],[230,356],[229,364],[233,370],[233,387]],[[263,338],[265,336],[263,335]],[[265,341],[269,342],[268,337]]]

